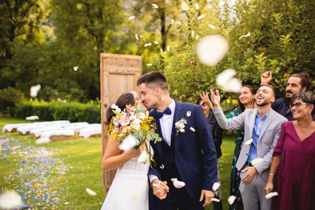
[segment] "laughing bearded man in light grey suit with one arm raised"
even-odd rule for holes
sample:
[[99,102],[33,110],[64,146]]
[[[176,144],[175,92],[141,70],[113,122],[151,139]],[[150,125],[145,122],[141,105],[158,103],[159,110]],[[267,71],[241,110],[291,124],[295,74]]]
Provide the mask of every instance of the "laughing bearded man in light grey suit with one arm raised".
[[[271,209],[272,199],[266,199],[264,187],[269,176],[272,152],[280,136],[281,124],[288,121],[271,109],[275,91],[270,85],[261,85],[257,90],[256,109],[245,109],[239,116],[226,119],[220,107],[219,91],[210,90],[214,104],[213,112],[223,129],[244,128],[244,142],[236,167],[240,173],[244,210]],[[261,158],[261,161],[252,161]]]

